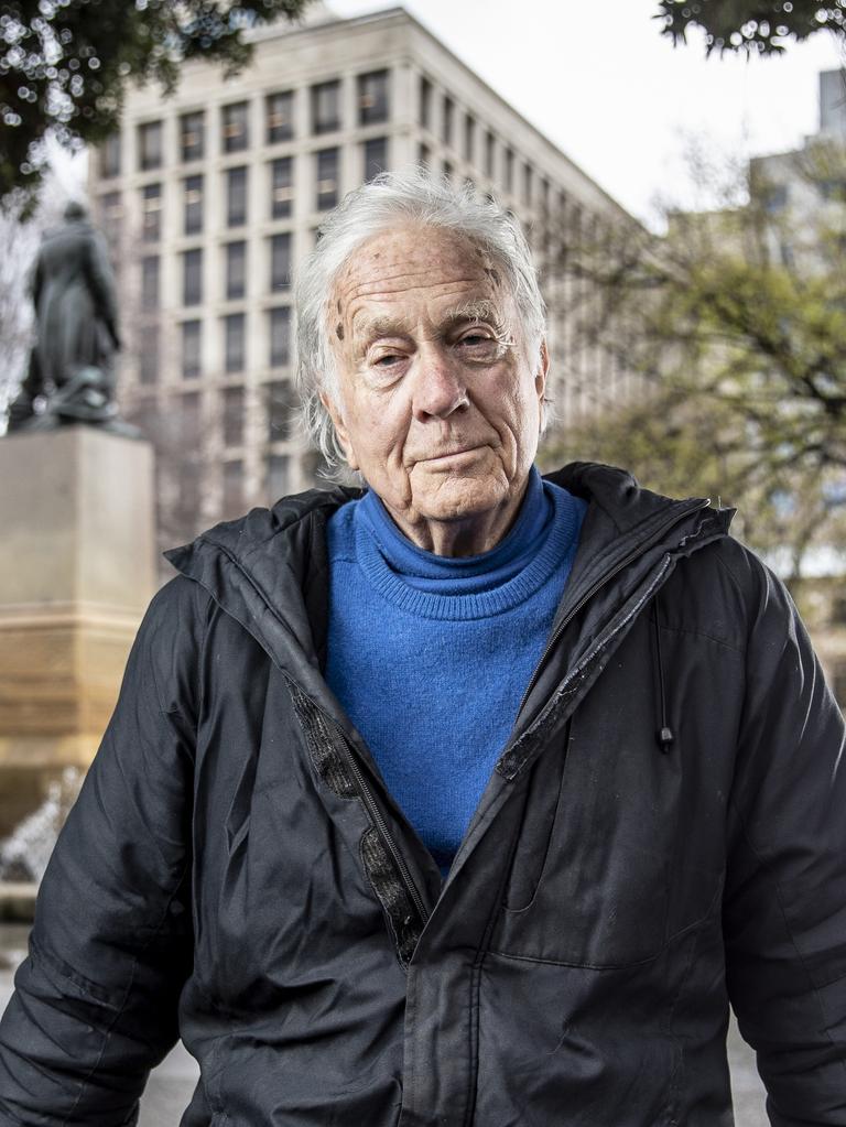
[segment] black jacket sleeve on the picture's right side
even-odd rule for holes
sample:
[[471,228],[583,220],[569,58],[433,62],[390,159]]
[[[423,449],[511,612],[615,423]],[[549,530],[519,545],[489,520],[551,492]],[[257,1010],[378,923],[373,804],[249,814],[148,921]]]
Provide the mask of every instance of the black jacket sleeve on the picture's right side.
[[846,1124],[843,716],[784,586],[754,559],[724,899],[729,995],[773,1127]]

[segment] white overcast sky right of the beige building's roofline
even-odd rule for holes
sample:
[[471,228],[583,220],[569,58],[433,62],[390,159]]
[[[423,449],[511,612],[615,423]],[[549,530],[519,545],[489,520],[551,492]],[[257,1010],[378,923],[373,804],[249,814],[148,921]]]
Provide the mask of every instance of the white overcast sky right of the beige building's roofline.
[[[398,5],[329,0],[339,16]],[[657,193],[692,202],[693,136],[737,156],[787,151],[817,130],[820,70],[844,64],[826,35],[778,59],[673,47],[657,0],[406,0],[463,62],[643,219]],[[605,23],[599,23],[602,12]]]

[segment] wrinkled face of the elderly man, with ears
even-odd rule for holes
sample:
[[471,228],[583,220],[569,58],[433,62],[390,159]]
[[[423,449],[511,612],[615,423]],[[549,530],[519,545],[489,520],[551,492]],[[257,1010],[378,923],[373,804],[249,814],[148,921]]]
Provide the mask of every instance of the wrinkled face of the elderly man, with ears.
[[523,498],[546,374],[500,272],[463,236],[400,227],[350,257],[332,314],[339,402],[324,402],[350,467],[419,547],[493,547]]

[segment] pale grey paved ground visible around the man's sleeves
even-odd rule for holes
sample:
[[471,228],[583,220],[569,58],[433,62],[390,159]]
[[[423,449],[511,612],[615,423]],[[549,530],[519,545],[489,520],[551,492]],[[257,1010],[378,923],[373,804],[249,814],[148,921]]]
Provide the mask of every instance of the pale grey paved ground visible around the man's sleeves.
[[[0,959],[7,964],[23,956],[26,929],[0,925]],[[0,969],[0,1011],[11,994],[11,970]],[[736,1127],[767,1127],[764,1095],[751,1050],[732,1022],[729,1031],[729,1063],[734,1093]],[[197,1082],[197,1065],[178,1045],[152,1073],[141,1103],[139,1127],[178,1127],[182,1109]]]

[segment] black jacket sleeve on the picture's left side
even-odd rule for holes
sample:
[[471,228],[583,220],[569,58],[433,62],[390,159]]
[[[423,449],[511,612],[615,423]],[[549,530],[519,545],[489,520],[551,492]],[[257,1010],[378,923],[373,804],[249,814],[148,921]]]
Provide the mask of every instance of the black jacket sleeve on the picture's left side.
[[190,797],[208,600],[153,600],[38,893],[0,1022],[0,1124],[133,1124],[192,967]]

